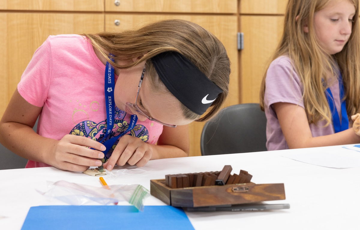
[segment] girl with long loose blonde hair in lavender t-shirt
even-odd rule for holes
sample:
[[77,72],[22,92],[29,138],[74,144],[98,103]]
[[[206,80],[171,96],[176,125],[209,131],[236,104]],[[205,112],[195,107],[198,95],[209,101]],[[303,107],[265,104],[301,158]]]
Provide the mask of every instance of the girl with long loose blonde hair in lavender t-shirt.
[[284,32],[263,78],[268,150],[359,143],[358,0],[289,0]]

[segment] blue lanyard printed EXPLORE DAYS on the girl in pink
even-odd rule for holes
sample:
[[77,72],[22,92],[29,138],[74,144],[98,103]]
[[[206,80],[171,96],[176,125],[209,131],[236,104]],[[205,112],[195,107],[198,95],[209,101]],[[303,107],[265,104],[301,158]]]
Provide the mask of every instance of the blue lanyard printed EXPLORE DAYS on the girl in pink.
[[[112,54],[109,55],[110,59],[112,61],[114,61],[111,56],[113,56]],[[122,134],[116,136],[116,137],[112,137],[110,139],[108,139],[107,141],[106,138],[109,136],[109,134],[111,134],[112,129],[113,129],[113,125],[114,125],[114,119],[113,119],[113,111],[115,109],[115,104],[114,104],[114,88],[115,88],[115,77],[114,77],[114,68],[112,67],[112,65],[109,62],[106,62],[106,69],[105,69],[105,105],[106,105],[106,120],[107,120],[107,129],[106,129],[106,133],[104,135],[104,137],[101,140],[98,140],[100,143],[104,144],[104,146],[106,147],[106,150],[103,151],[104,155],[105,155],[105,160],[107,158],[109,158],[110,156],[107,156],[107,152],[112,148],[112,146],[114,145],[114,143],[123,135],[125,135],[127,132],[129,132],[131,129],[134,128],[134,126],[136,125],[136,121],[138,121],[138,116],[136,115],[131,115],[130,118],[130,123],[128,128],[125,130],[125,132],[123,132]]]

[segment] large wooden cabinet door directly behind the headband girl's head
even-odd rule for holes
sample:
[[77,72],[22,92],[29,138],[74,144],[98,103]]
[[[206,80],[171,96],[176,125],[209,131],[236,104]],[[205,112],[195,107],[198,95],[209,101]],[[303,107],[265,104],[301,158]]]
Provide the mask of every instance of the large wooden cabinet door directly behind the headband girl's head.
[[[239,103],[238,82],[238,50],[236,33],[238,30],[236,15],[165,15],[165,14],[105,14],[105,30],[121,31],[162,19],[184,19],[206,28],[213,33],[224,44],[231,61],[230,93],[225,106]],[[119,26],[114,24],[119,20]],[[200,136],[204,123],[193,122],[190,124],[190,156],[199,156]]]

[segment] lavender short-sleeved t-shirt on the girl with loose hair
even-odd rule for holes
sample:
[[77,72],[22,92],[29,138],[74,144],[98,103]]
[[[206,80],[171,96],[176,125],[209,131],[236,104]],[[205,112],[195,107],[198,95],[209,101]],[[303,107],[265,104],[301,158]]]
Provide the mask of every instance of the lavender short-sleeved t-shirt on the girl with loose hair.
[[[303,85],[288,56],[280,56],[271,62],[269,69],[267,69],[265,86],[266,148],[267,150],[288,149],[279,120],[272,106],[277,102],[287,102],[304,108],[302,99]],[[330,90],[341,119],[339,82],[334,81],[330,86]],[[333,134],[334,126],[332,124],[324,126],[325,124],[326,121],[324,120],[316,124],[310,124],[312,136],[319,137]],[[350,123],[349,127],[351,127]]]

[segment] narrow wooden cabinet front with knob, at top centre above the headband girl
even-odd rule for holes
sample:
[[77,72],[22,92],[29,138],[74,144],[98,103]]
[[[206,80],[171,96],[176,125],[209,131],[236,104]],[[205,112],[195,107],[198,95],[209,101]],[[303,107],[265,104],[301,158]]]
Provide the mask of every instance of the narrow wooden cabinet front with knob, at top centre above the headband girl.
[[237,13],[237,0],[105,0],[105,11]]

